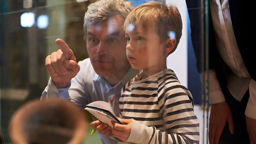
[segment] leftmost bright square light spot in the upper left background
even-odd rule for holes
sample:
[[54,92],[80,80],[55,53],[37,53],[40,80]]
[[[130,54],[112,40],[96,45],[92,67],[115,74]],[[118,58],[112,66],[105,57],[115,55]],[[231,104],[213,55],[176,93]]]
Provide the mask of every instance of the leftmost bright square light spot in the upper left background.
[[33,12],[24,12],[21,14],[21,27],[32,27],[35,23],[35,14]]

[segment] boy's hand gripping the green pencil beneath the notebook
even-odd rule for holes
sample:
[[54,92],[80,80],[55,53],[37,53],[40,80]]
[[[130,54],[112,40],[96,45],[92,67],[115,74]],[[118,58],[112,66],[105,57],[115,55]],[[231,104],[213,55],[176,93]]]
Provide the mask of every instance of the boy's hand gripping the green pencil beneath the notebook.
[[106,124],[106,123],[101,123],[100,121],[92,121],[90,123],[91,127],[97,127],[97,130],[99,131],[99,134],[103,134],[105,136],[112,136],[112,128]]

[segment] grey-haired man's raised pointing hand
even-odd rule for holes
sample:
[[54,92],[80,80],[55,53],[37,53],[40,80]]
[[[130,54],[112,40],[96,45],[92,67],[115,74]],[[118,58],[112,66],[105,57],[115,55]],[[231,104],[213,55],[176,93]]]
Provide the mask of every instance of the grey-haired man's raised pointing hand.
[[80,66],[73,51],[62,39],[56,39],[55,43],[60,49],[46,57],[45,66],[56,88],[65,88],[77,75]]

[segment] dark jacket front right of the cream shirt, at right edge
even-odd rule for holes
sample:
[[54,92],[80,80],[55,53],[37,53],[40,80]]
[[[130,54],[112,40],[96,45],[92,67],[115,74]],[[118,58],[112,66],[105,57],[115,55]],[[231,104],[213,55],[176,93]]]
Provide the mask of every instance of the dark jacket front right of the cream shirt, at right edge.
[[252,29],[255,26],[251,21],[254,18],[250,19],[251,14],[255,12],[252,12],[254,9],[253,4],[242,0],[229,1],[231,21],[239,51],[249,74],[256,81],[255,38],[252,36],[254,35]]

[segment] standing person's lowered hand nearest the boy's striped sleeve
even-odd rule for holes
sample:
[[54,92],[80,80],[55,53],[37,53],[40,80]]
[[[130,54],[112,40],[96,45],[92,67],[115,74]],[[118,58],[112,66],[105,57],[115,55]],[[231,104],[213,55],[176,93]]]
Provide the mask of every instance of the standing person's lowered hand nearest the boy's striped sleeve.
[[229,131],[234,134],[234,122],[229,105],[226,102],[216,103],[211,106],[209,121],[210,144],[219,144],[222,131],[229,124]]

